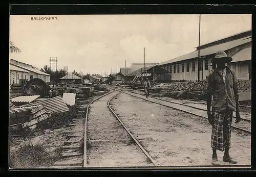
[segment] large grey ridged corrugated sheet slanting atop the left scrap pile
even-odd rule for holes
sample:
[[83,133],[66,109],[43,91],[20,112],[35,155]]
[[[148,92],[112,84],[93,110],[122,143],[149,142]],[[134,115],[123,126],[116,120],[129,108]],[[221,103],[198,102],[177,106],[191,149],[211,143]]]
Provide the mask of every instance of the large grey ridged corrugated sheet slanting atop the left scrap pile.
[[47,98],[46,100],[41,100],[35,103],[23,105],[20,107],[28,107],[28,106],[36,106],[36,105],[44,105],[47,112],[50,112],[50,113],[69,111],[68,106],[64,103],[60,95],[55,96],[53,98]]

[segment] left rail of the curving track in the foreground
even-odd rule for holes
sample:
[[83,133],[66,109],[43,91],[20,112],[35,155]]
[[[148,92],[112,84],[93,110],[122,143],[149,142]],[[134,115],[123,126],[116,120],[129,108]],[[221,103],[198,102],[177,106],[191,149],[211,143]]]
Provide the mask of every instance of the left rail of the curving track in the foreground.
[[[112,88],[111,88],[112,89]],[[112,89],[112,92],[106,93],[104,95],[101,95],[100,97],[94,99],[92,102],[90,102],[87,106],[86,110],[86,122],[84,123],[84,137],[83,137],[83,167],[87,167],[87,119],[88,119],[88,112],[89,112],[89,107],[92,103],[94,103],[96,100],[99,98],[102,98],[103,96],[109,95],[110,93],[114,92],[114,89]]]

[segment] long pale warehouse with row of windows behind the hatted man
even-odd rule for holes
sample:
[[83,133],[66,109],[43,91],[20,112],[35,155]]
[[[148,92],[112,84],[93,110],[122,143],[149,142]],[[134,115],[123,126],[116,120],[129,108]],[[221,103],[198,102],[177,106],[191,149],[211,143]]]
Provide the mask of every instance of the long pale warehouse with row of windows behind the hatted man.
[[198,80],[198,68],[199,79],[205,80],[210,71],[216,68],[216,65],[211,64],[211,59],[219,50],[224,50],[233,58],[228,66],[236,72],[238,79],[251,79],[251,30],[201,45],[194,52],[162,62],[159,66],[171,74],[173,81]]

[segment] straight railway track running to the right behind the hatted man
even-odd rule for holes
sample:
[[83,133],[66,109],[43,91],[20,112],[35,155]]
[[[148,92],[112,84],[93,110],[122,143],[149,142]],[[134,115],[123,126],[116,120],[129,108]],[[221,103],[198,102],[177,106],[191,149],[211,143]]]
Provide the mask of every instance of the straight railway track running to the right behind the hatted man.
[[[133,93],[133,92],[130,92],[130,91],[124,91],[120,88],[115,88],[115,90],[122,91],[125,94],[129,94],[131,96],[144,99],[144,100],[146,100],[148,102],[151,102],[151,103],[155,103],[155,104],[162,105],[162,106],[165,106],[165,107],[180,110],[180,111],[183,111],[183,112],[186,112],[186,113],[189,113],[189,114],[193,114],[193,115],[196,115],[196,116],[199,116],[199,117],[202,117],[202,118],[207,118],[207,111],[205,109],[201,109],[201,108],[197,108],[197,107],[194,107],[194,106],[185,105],[185,104],[181,104],[181,103],[170,102],[170,101],[160,99],[160,98],[155,98],[155,97],[152,97],[152,96],[150,96],[149,97],[150,99],[148,99],[148,98],[145,98],[145,95],[143,95],[143,94]],[[139,96],[137,96],[137,95],[139,95]],[[242,120],[249,122],[249,119],[242,119]],[[243,123],[242,121],[240,121],[239,123],[241,124],[242,127],[248,127],[248,124]],[[247,130],[246,128],[237,127],[235,125],[231,125],[231,126],[235,130],[242,131],[242,132],[247,133],[247,134],[251,134],[251,131]]]

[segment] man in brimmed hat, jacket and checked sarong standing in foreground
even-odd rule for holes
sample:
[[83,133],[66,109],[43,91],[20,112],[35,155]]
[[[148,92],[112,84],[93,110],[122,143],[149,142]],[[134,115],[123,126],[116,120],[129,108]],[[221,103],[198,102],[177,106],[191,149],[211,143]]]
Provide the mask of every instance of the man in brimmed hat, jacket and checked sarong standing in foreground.
[[[209,123],[212,125],[211,148],[212,164],[220,165],[217,150],[224,151],[223,161],[236,164],[237,162],[229,156],[231,123],[233,111],[236,111],[236,121],[240,122],[238,104],[238,80],[236,73],[226,66],[232,61],[231,57],[220,50],[212,59],[217,68],[209,74],[207,84],[207,114]],[[211,107],[212,96],[212,112]]]

